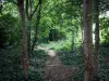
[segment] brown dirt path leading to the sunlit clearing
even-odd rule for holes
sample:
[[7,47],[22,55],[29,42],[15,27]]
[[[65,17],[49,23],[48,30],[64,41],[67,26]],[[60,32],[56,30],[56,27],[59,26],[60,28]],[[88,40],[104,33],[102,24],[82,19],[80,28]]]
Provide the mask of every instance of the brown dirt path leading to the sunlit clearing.
[[57,52],[38,46],[39,50],[48,52],[48,59],[45,67],[46,81],[72,81],[72,75],[77,71],[77,67],[68,67],[60,60]]

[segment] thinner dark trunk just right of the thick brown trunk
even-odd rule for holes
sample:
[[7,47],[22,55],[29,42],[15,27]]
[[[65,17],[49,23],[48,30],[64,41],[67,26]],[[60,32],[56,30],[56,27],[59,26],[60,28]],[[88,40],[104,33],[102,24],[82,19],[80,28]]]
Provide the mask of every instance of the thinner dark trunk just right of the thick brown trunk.
[[94,75],[95,78],[98,78],[98,72],[99,72],[99,0],[95,0],[95,55],[94,55]]

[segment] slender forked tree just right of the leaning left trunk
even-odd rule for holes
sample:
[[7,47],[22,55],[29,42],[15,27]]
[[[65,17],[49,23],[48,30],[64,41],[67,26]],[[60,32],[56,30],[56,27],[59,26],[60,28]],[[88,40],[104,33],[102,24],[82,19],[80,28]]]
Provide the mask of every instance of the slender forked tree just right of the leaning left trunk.
[[[39,1],[37,3],[37,5],[34,6],[33,4],[33,0],[26,0],[26,17],[27,17],[27,48],[28,48],[28,54],[31,54],[31,27],[32,27],[32,21],[33,21],[33,16],[35,15],[35,12],[37,11],[39,5]],[[33,11],[34,9],[34,11]]]

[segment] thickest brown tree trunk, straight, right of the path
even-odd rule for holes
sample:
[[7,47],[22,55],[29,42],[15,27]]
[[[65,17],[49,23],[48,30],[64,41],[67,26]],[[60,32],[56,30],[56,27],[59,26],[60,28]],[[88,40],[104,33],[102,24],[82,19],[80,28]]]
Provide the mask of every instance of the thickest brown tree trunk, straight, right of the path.
[[92,0],[83,0],[85,81],[93,81]]

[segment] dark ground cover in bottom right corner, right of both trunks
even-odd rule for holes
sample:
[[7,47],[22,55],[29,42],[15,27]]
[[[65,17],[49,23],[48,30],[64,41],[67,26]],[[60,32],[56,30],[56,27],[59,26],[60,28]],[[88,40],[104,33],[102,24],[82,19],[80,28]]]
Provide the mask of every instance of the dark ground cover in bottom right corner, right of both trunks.
[[100,46],[99,50],[100,53],[100,70],[99,70],[99,76],[100,79],[104,81],[109,81],[109,46]]

